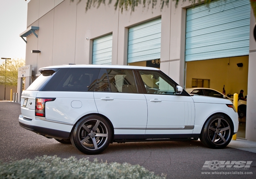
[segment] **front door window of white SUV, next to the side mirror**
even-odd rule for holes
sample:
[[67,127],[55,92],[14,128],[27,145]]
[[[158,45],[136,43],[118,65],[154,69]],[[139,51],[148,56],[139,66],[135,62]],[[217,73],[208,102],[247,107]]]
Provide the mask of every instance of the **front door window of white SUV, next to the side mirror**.
[[139,71],[147,93],[175,94],[175,85],[157,71]]

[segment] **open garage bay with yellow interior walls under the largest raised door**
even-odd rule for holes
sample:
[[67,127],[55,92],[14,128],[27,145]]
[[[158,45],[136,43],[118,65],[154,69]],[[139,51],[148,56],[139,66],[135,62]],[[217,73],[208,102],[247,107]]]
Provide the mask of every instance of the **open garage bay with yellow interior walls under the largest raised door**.
[[[248,56],[218,58],[186,62],[186,89],[188,88],[211,88],[233,98],[234,93],[243,90],[244,97],[247,95],[248,84]],[[240,64],[239,64],[240,63]],[[242,63],[242,66],[241,66]],[[239,67],[240,66],[240,67]],[[230,95],[229,95],[230,94]],[[237,137],[245,138],[246,102],[239,102],[239,131]],[[241,111],[241,112],[240,112]]]

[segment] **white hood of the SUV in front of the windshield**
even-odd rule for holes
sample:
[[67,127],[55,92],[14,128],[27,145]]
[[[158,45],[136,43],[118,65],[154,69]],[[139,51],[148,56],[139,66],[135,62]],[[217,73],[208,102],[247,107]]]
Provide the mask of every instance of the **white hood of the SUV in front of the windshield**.
[[195,103],[233,104],[229,99],[214,98],[209,96],[191,96]]

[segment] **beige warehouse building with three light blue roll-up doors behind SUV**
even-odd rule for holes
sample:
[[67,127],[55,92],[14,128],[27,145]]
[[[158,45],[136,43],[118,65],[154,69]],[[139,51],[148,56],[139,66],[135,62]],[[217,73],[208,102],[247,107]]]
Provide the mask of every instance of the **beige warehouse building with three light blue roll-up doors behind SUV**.
[[[160,2],[159,2],[160,3]],[[160,10],[114,10],[114,3],[85,12],[82,0],[30,0],[26,65],[155,66],[184,88],[209,87],[247,95],[246,138],[256,141],[255,17],[250,1],[212,1],[209,7],[170,1]],[[222,14],[224,12],[224,14]],[[228,25],[227,25],[228,24]],[[31,50],[38,50],[31,53]],[[40,53],[39,53],[40,51]],[[237,64],[241,64],[239,67]],[[25,87],[27,88],[27,87]]]

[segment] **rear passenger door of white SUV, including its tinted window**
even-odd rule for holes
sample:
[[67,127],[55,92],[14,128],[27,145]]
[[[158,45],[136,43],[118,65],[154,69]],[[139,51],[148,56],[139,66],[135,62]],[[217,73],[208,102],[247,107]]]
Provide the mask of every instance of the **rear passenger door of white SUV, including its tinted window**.
[[[147,103],[134,71],[128,69],[101,69],[95,86],[94,98],[98,112],[108,117],[115,139],[144,138],[147,124]],[[138,80],[137,80],[138,81]]]

